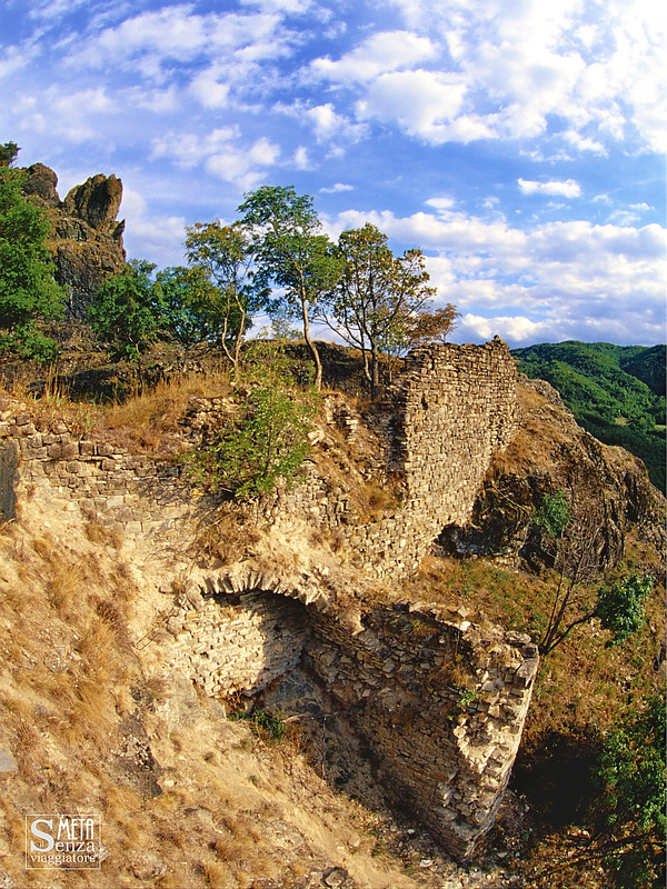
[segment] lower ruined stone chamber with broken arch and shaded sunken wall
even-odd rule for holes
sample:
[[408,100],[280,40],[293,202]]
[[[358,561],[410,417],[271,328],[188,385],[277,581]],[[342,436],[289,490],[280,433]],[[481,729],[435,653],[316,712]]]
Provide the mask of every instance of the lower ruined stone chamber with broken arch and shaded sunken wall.
[[467,858],[507,787],[537,647],[471,623],[465,607],[359,608],[346,615],[299,580],[210,575],[188,585],[170,618],[166,669],[185,669],[207,693],[250,696],[303,657],[375,751],[396,800]]

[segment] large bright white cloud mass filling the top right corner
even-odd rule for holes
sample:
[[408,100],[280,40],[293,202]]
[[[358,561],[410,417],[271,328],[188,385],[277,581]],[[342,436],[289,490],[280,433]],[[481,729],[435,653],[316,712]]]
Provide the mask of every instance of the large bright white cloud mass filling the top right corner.
[[[365,118],[375,99],[379,118],[420,138],[440,142],[478,138],[531,139],[549,133],[577,152],[605,154],[610,140],[639,137],[664,149],[665,18],[647,0],[389,0],[412,37],[429,37],[432,53],[401,66],[421,67],[436,80],[456,76],[459,107],[444,114],[391,116],[377,80],[382,69],[369,40],[340,60],[318,60],[316,70],[337,83],[355,83]],[[397,32],[401,33],[401,32]],[[404,32],[405,33],[405,32]],[[440,49],[446,46],[447,51]],[[425,63],[427,62],[427,63]],[[406,71],[407,73],[407,71]],[[451,118],[448,127],[434,122]]]

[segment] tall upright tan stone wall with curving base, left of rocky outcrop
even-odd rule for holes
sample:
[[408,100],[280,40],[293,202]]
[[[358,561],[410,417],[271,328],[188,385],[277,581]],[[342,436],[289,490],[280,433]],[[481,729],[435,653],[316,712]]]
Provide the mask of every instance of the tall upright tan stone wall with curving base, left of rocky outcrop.
[[386,467],[406,490],[400,507],[360,525],[349,495],[331,491],[312,472],[271,507],[271,517],[286,522],[300,516],[339,533],[354,563],[376,577],[409,573],[446,526],[470,518],[491,456],[517,431],[516,383],[514,359],[498,338],[484,346],[415,350],[379,417]]

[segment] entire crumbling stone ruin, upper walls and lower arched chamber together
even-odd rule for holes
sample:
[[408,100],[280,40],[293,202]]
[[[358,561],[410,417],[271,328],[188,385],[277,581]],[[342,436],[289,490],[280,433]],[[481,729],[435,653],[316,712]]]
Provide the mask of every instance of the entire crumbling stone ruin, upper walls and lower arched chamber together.
[[[537,649],[527,636],[471,622],[466,609],[402,601],[386,581],[409,575],[445,526],[470,517],[492,453],[517,428],[515,383],[499,340],[416,351],[380,430],[404,502],[359,523],[346,492],[312,466],[300,487],[267,506],[263,521],[282,540],[336,531],[347,561],[322,551],[299,570],[252,557],[189,565],[185,586],[166,585],[153,628],[170,640],[165,669],[217,697],[251,697],[307,661],[374,750],[386,786],[459,859],[472,853],[502,799]],[[38,430],[27,410],[0,414],[0,442],[4,518],[14,496],[20,502],[29,491],[150,541],[156,552],[185,552],[213,506],[192,497],[178,466],[62,423]]]

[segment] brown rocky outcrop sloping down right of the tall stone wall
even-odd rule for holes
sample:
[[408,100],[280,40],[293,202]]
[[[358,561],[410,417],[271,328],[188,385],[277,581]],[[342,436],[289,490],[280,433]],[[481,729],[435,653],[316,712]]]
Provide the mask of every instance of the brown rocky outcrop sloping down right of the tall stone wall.
[[545,551],[534,511],[546,495],[563,490],[576,523],[596,537],[598,570],[621,558],[630,530],[664,552],[665,498],[644,463],[581,429],[544,380],[522,378],[517,394],[520,428],[509,447],[495,453],[471,518],[445,529],[439,539],[445,551],[512,566],[521,559],[539,563]]

